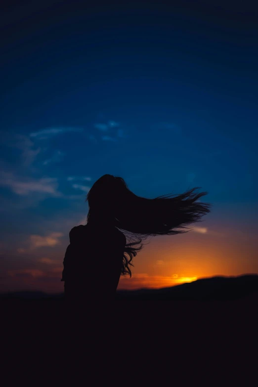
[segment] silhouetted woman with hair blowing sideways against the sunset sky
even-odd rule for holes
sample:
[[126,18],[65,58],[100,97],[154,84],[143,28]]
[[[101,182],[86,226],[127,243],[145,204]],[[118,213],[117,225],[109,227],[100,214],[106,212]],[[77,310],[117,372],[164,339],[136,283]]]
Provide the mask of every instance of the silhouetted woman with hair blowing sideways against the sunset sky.
[[211,204],[198,200],[207,192],[195,193],[197,188],[147,199],[133,194],[122,177],[101,176],[86,196],[87,224],[69,233],[61,279],[65,299],[114,300],[120,276],[131,277],[129,265],[143,239],[188,232],[175,228],[187,228],[210,212]]

